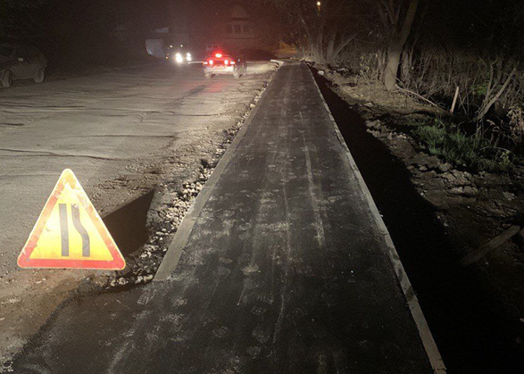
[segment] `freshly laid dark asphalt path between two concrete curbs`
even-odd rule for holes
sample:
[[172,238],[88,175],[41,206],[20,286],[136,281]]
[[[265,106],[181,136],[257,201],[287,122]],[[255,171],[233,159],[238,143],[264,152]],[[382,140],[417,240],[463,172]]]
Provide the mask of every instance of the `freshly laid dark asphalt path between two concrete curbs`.
[[280,68],[243,131],[183,223],[187,240],[175,238],[178,263],[171,245],[167,280],[63,305],[15,372],[434,371],[438,354],[303,63]]

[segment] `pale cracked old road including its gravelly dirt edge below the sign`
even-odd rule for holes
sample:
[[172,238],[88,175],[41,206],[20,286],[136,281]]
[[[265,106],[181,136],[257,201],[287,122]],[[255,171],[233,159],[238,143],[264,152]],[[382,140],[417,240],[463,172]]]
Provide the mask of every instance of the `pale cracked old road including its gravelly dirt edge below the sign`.
[[275,69],[250,62],[242,79],[210,80],[199,65],[157,64],[0,90],[0,358],[87,276],[16,265],[61,171],[75,172],[103,216],[145,195],[165,173],[181,184]]

